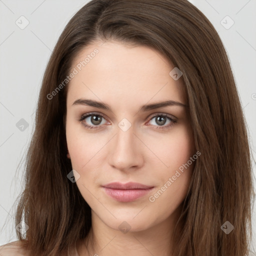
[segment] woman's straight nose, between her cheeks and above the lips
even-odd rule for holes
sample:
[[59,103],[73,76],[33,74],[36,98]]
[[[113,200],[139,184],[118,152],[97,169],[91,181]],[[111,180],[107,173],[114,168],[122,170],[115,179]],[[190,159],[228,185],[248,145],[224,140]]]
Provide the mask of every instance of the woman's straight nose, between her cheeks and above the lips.
[[143,164],[143,146],[134,134],[133,126],[126,131],[119,127],[116,130],[108,151],[108,163],[121,171],[138,169]]

